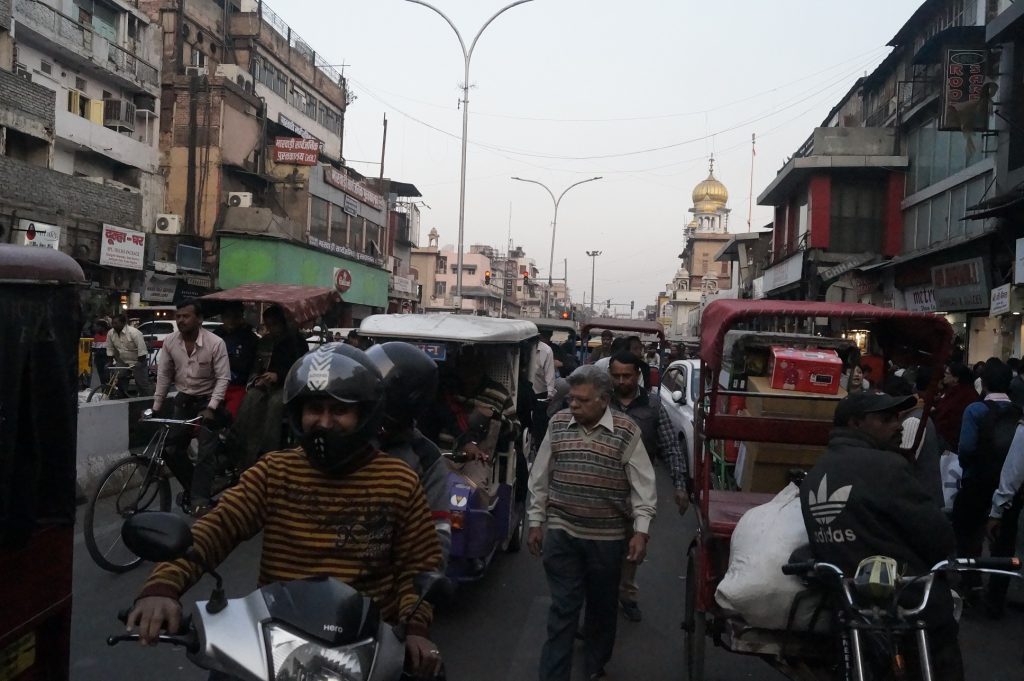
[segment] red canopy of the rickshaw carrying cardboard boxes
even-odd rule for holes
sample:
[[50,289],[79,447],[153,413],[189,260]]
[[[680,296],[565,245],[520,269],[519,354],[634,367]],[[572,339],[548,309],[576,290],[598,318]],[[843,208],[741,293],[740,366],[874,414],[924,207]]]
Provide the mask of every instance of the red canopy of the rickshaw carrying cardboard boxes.
[[[804,302],[796,300],[716,300],[700,316],[700,358],[713,369],[722,365],[725,334],[746,320],[769,316],[829,317],[863,321],[894,332],[899,342],[945,358],[952,347],[952,327],[945,317],[861,303]],[[756,333],[756,332],[752,332]]]

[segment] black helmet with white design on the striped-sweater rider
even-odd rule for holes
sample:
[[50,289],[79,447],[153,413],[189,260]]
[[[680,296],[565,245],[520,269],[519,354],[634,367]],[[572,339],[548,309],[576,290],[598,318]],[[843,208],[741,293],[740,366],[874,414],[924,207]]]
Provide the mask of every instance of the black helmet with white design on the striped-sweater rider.
[[[285,379],[285,405],[292,428],[313,467],[335,475],[359,468],[373,455],[373,439],[383,417],[383,380],[362,351],[341,343],[327,343],[302,356]],[[314,428],[302,430],[302,406],[310,397],[330,397],[359,405],[359,423],[341,433]]]

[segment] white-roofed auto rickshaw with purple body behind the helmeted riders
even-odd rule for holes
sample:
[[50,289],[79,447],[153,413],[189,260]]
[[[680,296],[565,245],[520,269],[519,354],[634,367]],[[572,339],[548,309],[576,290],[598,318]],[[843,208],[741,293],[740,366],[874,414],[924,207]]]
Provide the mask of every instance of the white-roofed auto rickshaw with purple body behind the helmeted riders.
[[[531,322],[446,313],[375,314],[362,321],[359,335],[376,343],[412,343],[433,358],[440,374],[440,408],[445,384],[454,382],[460,366],[470,357],[482,364],[485,376],[504,387],[513,405],[519,403],[523,382],[527,386],[524,393],[531,396],[529,359],[538,342],[538,329]],[[439,438],[434,435],[435,425],[420,425],[428,437]],[[479,580],[500,550],[518,551],[525,525],[529,473],[518,419],[496,415],[481,437],[489,437],[494,445],[488,452],[493,455],[489,486],[474,484],[456,465],[449,473],[452,552],[447,574],[457,582]],[[444,441],[435,441],[447,459],[458,461],[458,439],[447,446]]]

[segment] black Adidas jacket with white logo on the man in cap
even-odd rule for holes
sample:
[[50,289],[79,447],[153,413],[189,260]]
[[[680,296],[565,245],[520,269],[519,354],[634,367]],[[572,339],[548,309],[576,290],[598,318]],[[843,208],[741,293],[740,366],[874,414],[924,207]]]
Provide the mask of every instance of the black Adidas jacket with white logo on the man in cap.
[[923,574],[955,552],[949,521],[910,463],[852,428],[833,430],[801,484],[800,506],[815,558],[848,577],[868,556],[895,558],[905,573]]

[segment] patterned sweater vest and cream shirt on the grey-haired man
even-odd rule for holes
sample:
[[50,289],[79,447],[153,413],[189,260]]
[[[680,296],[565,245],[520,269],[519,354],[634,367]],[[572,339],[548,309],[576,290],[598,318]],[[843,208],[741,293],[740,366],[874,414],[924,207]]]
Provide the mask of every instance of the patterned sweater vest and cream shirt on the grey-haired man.
[[590,430],[568,410],[552,417],[529,488],[529,524],[547,522],[580,539],[625,539],[631,519],[647,533],[654,517],[654,469],[640,427],[610,410]]

